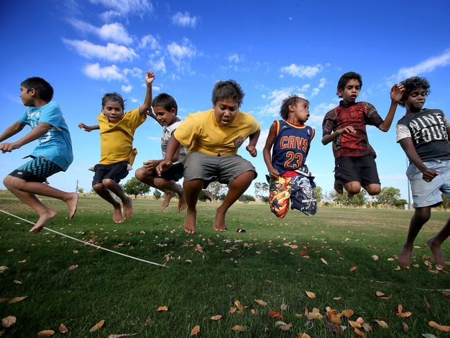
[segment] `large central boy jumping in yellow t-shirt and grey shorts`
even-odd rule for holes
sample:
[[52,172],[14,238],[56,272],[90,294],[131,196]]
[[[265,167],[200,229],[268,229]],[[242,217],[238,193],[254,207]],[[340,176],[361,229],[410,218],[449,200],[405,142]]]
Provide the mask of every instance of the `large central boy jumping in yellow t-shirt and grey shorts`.
[[170,138],[164,161],[156,167],[158,175],[170,166],[181,143],[188,148],[184,162],[183,189],[188,205],[184,231],[197,231],[197,200],[199,193],[212,181],[228,184],[224,202],[217,208],[213,229],[226,231],[226,211],[249,188],[256,178],[255,167],[237,155],[237,149],[249,137],[246,150],[256,156],[260,125],[251,116],[240,112],[244,92],[234,80],[217,82],[213,89],[213,109],[190,114]]

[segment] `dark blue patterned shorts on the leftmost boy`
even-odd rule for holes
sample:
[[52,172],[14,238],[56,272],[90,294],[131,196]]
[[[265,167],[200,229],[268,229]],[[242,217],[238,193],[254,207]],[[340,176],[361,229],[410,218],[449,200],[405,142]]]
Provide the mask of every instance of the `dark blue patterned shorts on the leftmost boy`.
[[45,182],[47,177],[62,171],[56,163],[45,157],[31,157],[32,159],[10,173],[12,177],[24,179],[27,182]]

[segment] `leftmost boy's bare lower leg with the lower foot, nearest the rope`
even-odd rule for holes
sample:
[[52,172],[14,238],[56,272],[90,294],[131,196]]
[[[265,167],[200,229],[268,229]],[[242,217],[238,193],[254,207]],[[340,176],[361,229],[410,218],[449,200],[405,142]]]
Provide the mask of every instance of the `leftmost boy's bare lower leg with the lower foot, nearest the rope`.
[[[26,193],[25,191],[21,191],[17,188],[15,188],[14,181],[15,179],[19,179],[17,177],[12,177],[8,175],[4,180],[3,184],[10,190],[12,194],[14,194],[18,199],[20,199],[22,202],[33,208],[34,211],[36,211],[39,215],[39,220],[37,220],[35,226],[30,229],[30,232],[32,233],[38,233],[39,231],[46,226],[48,222],[50,222],[55,216],[56,211],[51,210],[50,208],[47,208],[42,204],[41,201],[37,198],[36,195],[31,193]],[[21,181],[24,181],[23,179],[19,179]]]

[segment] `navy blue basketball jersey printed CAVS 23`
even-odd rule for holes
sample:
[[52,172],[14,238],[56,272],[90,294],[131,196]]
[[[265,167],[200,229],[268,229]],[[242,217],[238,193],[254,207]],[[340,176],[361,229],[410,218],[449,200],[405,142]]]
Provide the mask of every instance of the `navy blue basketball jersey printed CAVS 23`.
[[284,120],[275,123],[276,138],[272,148],[272,166],[282,175],[305,164],[309,143],[316,131],[307,125],[293,125]]

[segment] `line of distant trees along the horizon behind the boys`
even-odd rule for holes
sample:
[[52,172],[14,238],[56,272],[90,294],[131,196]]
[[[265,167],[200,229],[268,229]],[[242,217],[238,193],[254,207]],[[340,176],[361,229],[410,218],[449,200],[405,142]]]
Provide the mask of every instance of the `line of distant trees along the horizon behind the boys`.
[[[269,184],[265,182],[255,182],[254,184],[255,196],[252,195],[242,195],[240,197],[240,202],[248,203],[255,202],[259,199],[263,203],[269,203]],[[123,190],[127,195],[132,195],[137,198],[141,195],[147,195],[150,193],[150,186],[143,184],[138,181],[136,177],[132,177],[125,184],[123,184]],[[224,200],[228,188],[225,184],[219,182],[212,182],[208,185],[208,188],[201,191],[199,195],[200,201],[219,201]],[[84,193],[83,188],[78,188],[78,193]],[[91,190],[90,194],[95,194],[95,191]],[[366,193],[366,190],[361,190],[361,193],[348,196],[345,191],[342,195],[334,191],[324,193],[320,186],[314,188],[314,194],[316,195],[317,202],[325,206],[354,206],[362,207],[366,206],[369,208],[377,208],[379,206],[384,206],[388,208],[404,208],[408,201],[406,199],[400,198],[400,190],[392,186],[386,186],[381,188],[381,193],[377,196],[370,196]],[[160,199],[163,197],[163,193],[158,189],[154,189],[153,197],[155,199]],[[445,195],[442,195],[444,202],[442,203],[442,208],[447,210],[450,207],[449,199]]]

